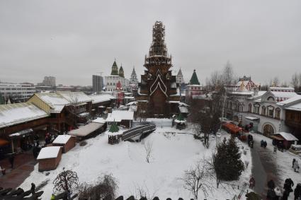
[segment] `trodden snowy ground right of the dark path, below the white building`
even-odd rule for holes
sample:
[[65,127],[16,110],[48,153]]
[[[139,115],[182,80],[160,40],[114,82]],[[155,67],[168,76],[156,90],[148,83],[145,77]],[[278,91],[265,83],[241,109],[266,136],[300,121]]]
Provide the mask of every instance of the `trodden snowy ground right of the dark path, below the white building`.
[[[260,134],[254,134],[254,141],[259,142],[261,140],[265,140],[268,143],[268,146],[266,146],[266,151],[269,151],[271,157],[275,161],[277,165],[277,169],[275,169],[275,172],[278,174],[278,179],[281,185],[279,186],[281,189],[283,188],[283,184],[287,178],[291,178],[294,182],[294,187],[297,185],[297,183],[301,183],[301,175],[300,172],[294,172],[292,168],[293,164],[293,158],[298,160],[298,163],[300,165],[301,158],[293,153],[290,153],[290,151],[277,151],[277,153],[273,153],[273,144],[272,139],[267,138],[266,136],[260,135]],[[293,193],[290,194],[289,199],[293,198]]]

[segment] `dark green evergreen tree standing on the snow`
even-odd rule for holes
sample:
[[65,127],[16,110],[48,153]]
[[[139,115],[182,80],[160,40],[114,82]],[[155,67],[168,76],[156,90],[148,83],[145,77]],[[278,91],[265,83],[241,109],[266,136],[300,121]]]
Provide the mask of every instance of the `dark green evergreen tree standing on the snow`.
[[223,181],[238,180],[244,170],[244,163],[240,159],[239,147],[234,138],[220,143],[217,146],[217,153],[213,159],[215,173],[218,183]]

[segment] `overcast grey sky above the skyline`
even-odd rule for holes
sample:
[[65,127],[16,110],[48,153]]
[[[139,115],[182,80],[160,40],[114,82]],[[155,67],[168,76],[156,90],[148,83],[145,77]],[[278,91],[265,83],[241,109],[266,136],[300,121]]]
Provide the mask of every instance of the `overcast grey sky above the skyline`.
[[140,77],[156,20],[186,81],[196,69],[205,83],[227,60],[261,84],[301,72],[300,0],[0,0],[0,80],[91,85],[114,58]]

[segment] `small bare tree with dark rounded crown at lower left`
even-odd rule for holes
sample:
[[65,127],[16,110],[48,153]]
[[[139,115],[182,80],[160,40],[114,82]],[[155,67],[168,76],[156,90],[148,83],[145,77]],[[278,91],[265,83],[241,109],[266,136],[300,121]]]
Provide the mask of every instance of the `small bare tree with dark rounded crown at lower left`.
[[55,194],[59,192],[67,192],[67,194],[72,194],[73,190],[79,186],[79,177],[76,172],[72,170],[64,170],[57,175],[53,184],[53,192]]

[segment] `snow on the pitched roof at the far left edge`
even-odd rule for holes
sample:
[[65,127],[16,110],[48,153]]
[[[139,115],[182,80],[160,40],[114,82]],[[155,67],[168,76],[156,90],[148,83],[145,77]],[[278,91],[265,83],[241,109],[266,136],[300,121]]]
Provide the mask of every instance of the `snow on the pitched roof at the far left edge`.
[[0,128],[47,116],[44,110],[30,102],[0,105]]

